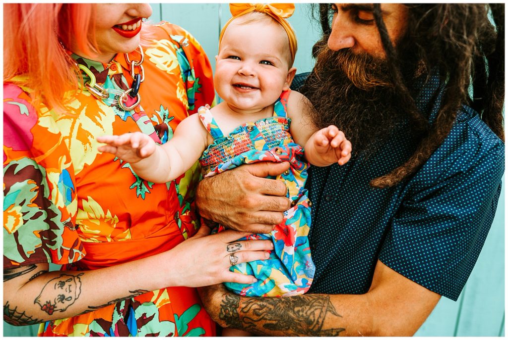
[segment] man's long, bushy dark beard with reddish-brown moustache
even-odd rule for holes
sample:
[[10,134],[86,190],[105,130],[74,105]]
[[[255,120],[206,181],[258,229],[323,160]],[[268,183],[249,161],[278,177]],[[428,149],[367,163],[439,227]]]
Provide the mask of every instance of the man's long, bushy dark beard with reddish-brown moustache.
[[375,152],[403,121],[386,60],[368,54],[332,51],[324,44],[300,91],[314,105],[317,128],[337,126],[353,154]]

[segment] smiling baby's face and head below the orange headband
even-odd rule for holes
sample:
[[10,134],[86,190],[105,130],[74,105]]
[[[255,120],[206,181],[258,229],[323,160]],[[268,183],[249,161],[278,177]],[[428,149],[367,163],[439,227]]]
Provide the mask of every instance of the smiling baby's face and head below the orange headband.
[[215,90],[230,106],[262,109],[288,90],[296,69],[290,69],[289,39],[278,23],[246,24],[242,17],[226,28],[216,57]]

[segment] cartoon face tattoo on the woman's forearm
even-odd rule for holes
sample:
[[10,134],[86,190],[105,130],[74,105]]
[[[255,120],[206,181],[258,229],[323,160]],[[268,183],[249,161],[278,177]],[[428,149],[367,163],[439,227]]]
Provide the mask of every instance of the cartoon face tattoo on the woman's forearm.
[[69,306],[74,304],[81,294],[81,280],[78,275],[62,274],[53,278],[42,288],[39,296],[34,300],[34,304],[39,304],[41,310],[52,315],[56,312],[63,312]]

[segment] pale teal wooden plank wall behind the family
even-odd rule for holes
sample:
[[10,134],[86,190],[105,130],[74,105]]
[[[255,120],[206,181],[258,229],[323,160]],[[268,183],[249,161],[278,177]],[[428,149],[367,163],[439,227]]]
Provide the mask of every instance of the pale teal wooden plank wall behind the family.
[[[228,4],[152,4],[152,22],[167,20],[190,31],[203,45],[215,69],[221,25],[231,17]],[[289,18],[298,37],[297,72],[312,69],[311,48],[320,28],[309,6],[297,4]],[[5,336],[36,335],[36,326],[13,327]],[[504,185],[494,223],[458,301],[441,298],[416,336],[504,336]]]

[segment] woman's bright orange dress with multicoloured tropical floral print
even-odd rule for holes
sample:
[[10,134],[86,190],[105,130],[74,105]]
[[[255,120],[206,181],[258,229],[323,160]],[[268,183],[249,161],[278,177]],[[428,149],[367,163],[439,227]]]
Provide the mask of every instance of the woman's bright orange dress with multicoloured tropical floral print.
[[[4,268],[44,262],[64,270],[104,268],[169,250],[196,233],[198,163],[174,181],[154,184],[97,150],[97,136],[131,131],[165,143],[195,104],[214,100],[210,63],[194,37],[170,23],[150,29],[141,104],[130,111],[114,95],[98,100],[83,90],[69,96],[67,114],[57,114],[32,106],[29,89],[4,84]],[[108,64],[72,58],[104,88],[131,87],[123,54]],[[139,52],[130,59],[140,60]],[[215,335],[194,288],[139,293],[46,322],[40,335]],[[40,299],[52,314],[55,305]]]

